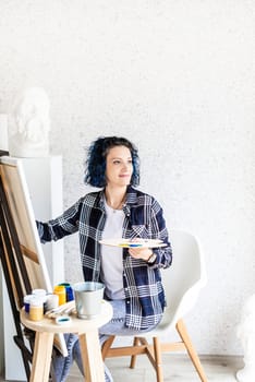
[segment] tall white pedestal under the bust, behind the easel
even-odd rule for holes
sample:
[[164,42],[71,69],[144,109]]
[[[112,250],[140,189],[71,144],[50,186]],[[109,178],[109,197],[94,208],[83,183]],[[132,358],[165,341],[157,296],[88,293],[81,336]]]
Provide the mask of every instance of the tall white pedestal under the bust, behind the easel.
[[[44,222],[60,215],[63,211],[61,156],[22,158],[21,160],[26,175],[36,219]],[[42,251],[52,285],[63,282],[63,240],[42,244]],[[5,284],[4,280],[3,284]],[[1,332],[4,334],[5,379],[26,381],[21,350],[13,341],[15,326],[5,285],[3,285],[3,330]]]

